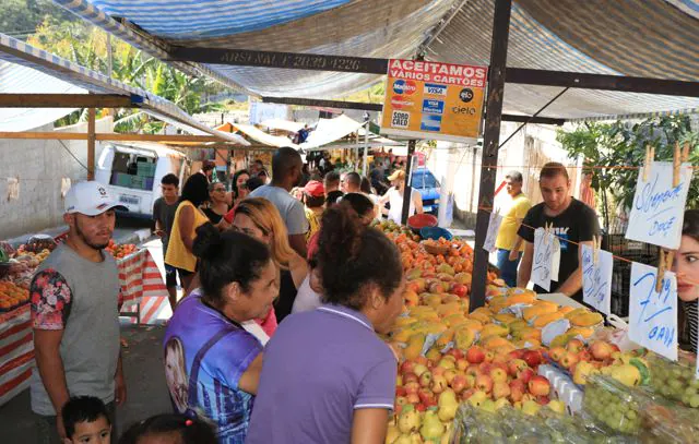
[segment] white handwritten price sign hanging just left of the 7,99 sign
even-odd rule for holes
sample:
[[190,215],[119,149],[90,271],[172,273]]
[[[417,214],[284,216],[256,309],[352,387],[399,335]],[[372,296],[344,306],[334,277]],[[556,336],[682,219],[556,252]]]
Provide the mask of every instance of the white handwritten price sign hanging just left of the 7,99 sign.
[[582,300],[599,312],[612,311],[612,267],[614,256],[608,251],[597,251],[594,262],[593,249],[582,245]]

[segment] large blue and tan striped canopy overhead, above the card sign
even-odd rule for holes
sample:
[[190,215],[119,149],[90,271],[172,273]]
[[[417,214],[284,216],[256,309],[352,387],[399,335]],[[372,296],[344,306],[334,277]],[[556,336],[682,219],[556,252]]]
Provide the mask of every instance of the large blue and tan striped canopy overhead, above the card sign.
[[[149,50],[150,45],[150,51],[159,51],[156,57],[165,60],[168,57],[162,52],[180,46],[370,58],[413,58],[424,52],[434,61],[488,64],[494,10],[494,0],[55,2],[140,48]],[[508,65],[696,81],[697,11],[697,0],[516,0]],[[138,27],[139,34],[125,31],[114,17]],[[350,72],[204,68],[210,76],[265,97],[339,97],[381,80]],[[508,84],[503,109],[532,115],[560,91]],[[697,109],[698,98],[570,89],[542,116],[608,118]]]

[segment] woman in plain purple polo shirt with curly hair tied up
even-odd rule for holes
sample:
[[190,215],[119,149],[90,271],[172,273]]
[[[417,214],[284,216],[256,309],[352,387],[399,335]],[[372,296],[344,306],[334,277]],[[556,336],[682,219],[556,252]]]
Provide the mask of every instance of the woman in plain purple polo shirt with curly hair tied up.
[[384,441],[396,361],[377,332],[403,305],[399,252],[348,203],[327,209],[321,227],[324,304],[288,316],[268,343],[246,443]]

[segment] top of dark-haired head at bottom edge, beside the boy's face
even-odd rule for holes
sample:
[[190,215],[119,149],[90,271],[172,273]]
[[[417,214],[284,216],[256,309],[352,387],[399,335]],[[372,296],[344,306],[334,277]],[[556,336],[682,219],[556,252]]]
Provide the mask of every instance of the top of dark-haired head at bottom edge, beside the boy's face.
[[205,422],[166,413],[131,425],[119,444],[218,444],[218,441]]

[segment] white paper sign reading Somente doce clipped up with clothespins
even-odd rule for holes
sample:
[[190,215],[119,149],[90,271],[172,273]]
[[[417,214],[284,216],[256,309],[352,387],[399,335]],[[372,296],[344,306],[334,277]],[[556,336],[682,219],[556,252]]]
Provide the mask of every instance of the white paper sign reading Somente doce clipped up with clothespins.
[[677,187],[671,161],[654,161],[648,181],[639,173],[626,238],[677,250],[691,173],[691,166],[683,164]]

